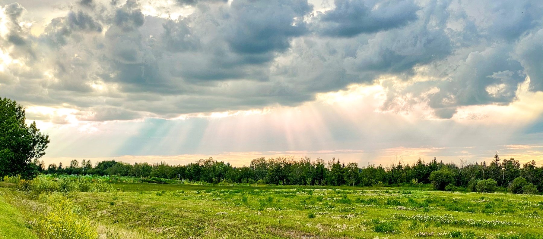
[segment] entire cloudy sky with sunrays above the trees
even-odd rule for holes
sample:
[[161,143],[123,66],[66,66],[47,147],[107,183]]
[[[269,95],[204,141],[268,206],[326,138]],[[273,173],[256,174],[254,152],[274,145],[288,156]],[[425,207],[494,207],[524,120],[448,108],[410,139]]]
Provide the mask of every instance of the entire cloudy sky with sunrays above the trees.
[[0,0],[0,96],[72,159],[543,164],[538,0]]

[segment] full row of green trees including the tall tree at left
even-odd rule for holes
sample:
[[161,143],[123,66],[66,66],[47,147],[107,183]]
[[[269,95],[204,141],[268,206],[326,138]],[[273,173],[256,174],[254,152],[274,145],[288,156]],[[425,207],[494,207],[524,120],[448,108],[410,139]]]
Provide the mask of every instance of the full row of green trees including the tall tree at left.
[[[201,159],[186,165],[166,163],[128,164],[105,160],[94,166],[90,160],[70,165],[50,164],[47,167],[38,159],[45,154],[49,136],[43,134],[33,122],[26,123],[23,106],[8,98],[0,98],[0,176],[21,175],[33,178],[39,173],[76,175],[117,175],[142,178],[182,179],[207,183],[263,183],[276,185],[397,185],[432,183],[434,188],[445,190],[453,187],[491,191],[494,186],[509,188],[513,192],[543,191],[543,167],[535,162],[522,166],[513,158],[501,159],[498,154],[489,164],[444,164],[434,158],[429,163],[419,159],[416,163],[396,163],[389,166],[341,163],[332,158],[328,162],[317,158],[292,157],[257,158],[249,166],[234,167],[212,158]],[[33,162],[31,162],[31,160]]]

